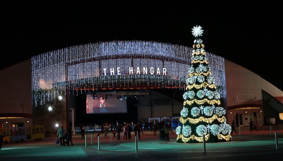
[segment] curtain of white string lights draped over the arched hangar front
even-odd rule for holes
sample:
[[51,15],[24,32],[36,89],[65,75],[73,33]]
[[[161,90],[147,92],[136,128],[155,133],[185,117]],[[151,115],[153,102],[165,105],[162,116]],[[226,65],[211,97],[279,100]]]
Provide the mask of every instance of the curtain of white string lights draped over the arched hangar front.
[[[121,87],[145,79],[161,88],[171,85],[185,90],[181,82],[185,82],[189,75],[191,53],[192,48],[186,46],[148,41],[99,42],[50,51],[31,59],[34,99],[41,99],[40,104],[44,104],[46,98],[52,100],[62,94],[58,89],[61,92],[67,89],[74,94],[75,88],[81,92],[90,91],[90,87],[99,90],[104,83],[111,88],[117,85],[118,78],[124,80],[119,84]],[[215,85],[221,87],[224,58],[209,52],[206,57]],[[119,76],[117,71],[111,73],[111,68],[116,70],[117,67],[120,67]],[[129,73],[129,67],[133,67],[133,74]],[[137,67],[140,73],[137,73]],[[147,74],[143,73],[143,67],[147,67]],[[150,73],[151,67],[154,74]],[[157,75],[157,68],[160,68],[160,75]],[[163,68],[166,68],[166,76],[162,75]]]

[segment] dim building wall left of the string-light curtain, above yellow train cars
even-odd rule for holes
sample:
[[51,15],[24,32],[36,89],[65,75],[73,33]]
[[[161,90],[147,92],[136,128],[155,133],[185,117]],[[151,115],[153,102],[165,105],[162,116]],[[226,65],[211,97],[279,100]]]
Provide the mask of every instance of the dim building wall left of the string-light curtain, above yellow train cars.
[[[0,114],[32,114],[31,82],[31,60],[0,70]],[[30,122],[27,123],[27,120]],[[7,119],[0,119],[0,123],[6,121]],[[31,118],[9,119],[8,122],[24,122],[25,126],[32,125]]]

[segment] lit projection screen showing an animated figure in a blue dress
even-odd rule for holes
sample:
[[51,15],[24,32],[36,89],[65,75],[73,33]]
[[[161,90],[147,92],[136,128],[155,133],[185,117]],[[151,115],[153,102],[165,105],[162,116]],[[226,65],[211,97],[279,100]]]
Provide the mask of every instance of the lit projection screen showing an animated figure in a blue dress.
[[105,95],[97,95],[93,99],[93,95],[87,95],[86,104],[87,114],[127,113],[126,99],[117,99],[117,96],[106,98]]

